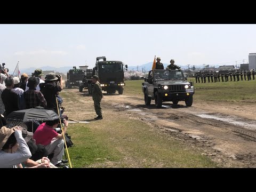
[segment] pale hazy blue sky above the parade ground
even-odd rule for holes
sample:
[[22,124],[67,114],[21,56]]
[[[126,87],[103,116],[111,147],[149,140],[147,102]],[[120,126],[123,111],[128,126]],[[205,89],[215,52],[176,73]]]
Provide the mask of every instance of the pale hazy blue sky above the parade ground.
[[[19,67],[83,66],[96,57],[128,66],[235,65],[256,52],[256,25],[0,25],[0,62]],[[22,71],[21,71],[22,73]]]

